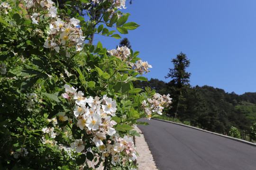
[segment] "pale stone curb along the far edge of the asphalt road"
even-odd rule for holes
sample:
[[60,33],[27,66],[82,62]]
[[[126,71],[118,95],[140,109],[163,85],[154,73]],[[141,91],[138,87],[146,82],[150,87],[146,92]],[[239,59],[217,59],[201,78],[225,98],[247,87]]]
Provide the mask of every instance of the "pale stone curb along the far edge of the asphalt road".
[[203,131],[203,132],[207,132],[207,133],[214,134],[214,135],[217,135],[217,136],[226,137],[226,138],[229,138],[229,139],[238,141],[238,142],[242,142],[242,143],[245,143],[245,144],[250,144],[250,145],[252,145],[252,146],[256,146],[256,144],[254,144],[254,143],[252,143],[252,142],[248,142],[248,141],[246,141],[246,140],[238,139],[238,138],[231,137],[231,136],[221,135],[221,134],[218,134],[218,133],[215,133],[215,132],[210,132],[210,131],[208,131],[208,130],[203,130],[203,129],[201,129],[201,128],[192,127],[192,126],[188,126],[188,125],[184,125],[184,124],[181,124],[181,123],[176,123],[176,122],[172,122],[172,121],[168,121],[168,120],[162,120],[162,119],[156,119],[156,118],[152,118],[152,119],[160,120],[160,121],[164,121],[164,122],[169,122],[169,123],[173,123],[173,124],[180,125],[180,126],[184,126],[184,127],[190,127],[190,128],[193,128],[193,129],[201,130],[201,131]]

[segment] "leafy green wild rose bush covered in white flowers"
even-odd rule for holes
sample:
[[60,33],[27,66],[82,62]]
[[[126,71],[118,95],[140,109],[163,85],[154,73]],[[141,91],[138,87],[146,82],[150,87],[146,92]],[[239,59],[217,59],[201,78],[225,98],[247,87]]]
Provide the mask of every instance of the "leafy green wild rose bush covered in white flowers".
[[[137,119],[162,114],[169,95],[134,88],[152,68],[126,46],[107,50],[91,34],[121,38],[125,0],[0,1],[0,169],[136,169]],[[83,7],[85,19],[73,10]],[[99,12],[100,11],[100,12]],[[109,27],[109,28],[107,28]]]

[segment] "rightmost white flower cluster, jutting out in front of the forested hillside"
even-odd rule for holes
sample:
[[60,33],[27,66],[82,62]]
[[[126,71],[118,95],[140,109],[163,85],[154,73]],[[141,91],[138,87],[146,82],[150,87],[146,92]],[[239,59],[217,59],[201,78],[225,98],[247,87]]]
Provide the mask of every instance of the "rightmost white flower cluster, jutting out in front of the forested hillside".
[[159,93],[155,93],[152,99],[147,98],[147,101],[142,101],[142,108],[147,114],[147,119],[151,119],[152,113],[162,115],[162,111],[164,109],[163,106],[167,107],[171,103],[172,98],[170,98],[170,94],[161,95]]

